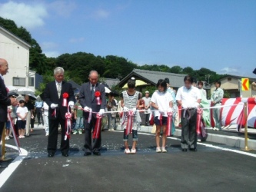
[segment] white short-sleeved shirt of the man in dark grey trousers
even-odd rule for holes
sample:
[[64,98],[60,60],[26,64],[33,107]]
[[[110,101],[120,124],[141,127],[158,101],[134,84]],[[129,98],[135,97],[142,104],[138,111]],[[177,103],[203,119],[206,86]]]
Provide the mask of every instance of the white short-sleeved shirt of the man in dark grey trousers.
[[194,108],[198,99],[201,99],[201,93],[199,89],[195,88],[193,85],[189,89],[185,86],[178,88],[176,101],[181,101],[186,107]]

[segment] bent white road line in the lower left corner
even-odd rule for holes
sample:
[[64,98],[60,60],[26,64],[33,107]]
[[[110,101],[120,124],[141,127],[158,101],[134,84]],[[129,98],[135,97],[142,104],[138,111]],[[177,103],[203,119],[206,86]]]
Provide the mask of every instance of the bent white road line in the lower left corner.
[[[15,150],[17,150],[16,146],[5,144],[5,147],[10,147]],[[25,149],[21,148],[22,153],[18,155],[18,157],[15,158],[14,161],[12,161],[11,164],[8,165],[8,167],[5,168],[5,170],[2,171],[0,174],[0,188],[5,184],[5,181],[8,180],[8,177],[12,175],[12,173],[15,171],[15,169],[18,167],[19,164],[22,163],[22,161],[27,157],[28,151],[25,151]]]

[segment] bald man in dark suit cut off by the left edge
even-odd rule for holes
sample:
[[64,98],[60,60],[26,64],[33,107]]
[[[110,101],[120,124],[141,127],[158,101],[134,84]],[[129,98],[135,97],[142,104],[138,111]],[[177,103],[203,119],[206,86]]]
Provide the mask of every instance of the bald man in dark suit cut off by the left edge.
[[2,132],[7,121],[7,107],[8,105],[16,105],[18,101],[15,98],[8,98],[8,90],[5,87],[3,76],[8,73],[8,63],[5,59],[0,58],[0,141],[2,139]]

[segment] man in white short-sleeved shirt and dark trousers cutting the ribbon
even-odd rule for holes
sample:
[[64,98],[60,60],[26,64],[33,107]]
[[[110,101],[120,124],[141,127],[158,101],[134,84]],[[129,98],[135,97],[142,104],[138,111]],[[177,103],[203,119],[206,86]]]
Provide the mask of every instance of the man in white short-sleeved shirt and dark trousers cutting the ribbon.
[[198,88],[192,86],[193,78],[184,78],[185,86],[178,88],[176,101],[181,110],[181,148],[182,151],[197,151],[198,134],[196,133],[197,108],[200,106],[201,94]]

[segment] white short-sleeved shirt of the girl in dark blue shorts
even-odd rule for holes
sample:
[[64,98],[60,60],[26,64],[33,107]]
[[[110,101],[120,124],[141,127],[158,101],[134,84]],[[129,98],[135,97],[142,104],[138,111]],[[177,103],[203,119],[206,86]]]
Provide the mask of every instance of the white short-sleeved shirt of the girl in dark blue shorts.
[[[160,92],[155,91],[155,93],[152,95],[151,102],[158,105],[158,108],[161,108],[161,110],[165,111],[165,114],[163,116],[167,117],[167,111],[169,108],[170,102],[173,100],[171,97],[171,94],[168,91]],[[155,116],[159,116],[159,111],[157,109],[155,110]]]

